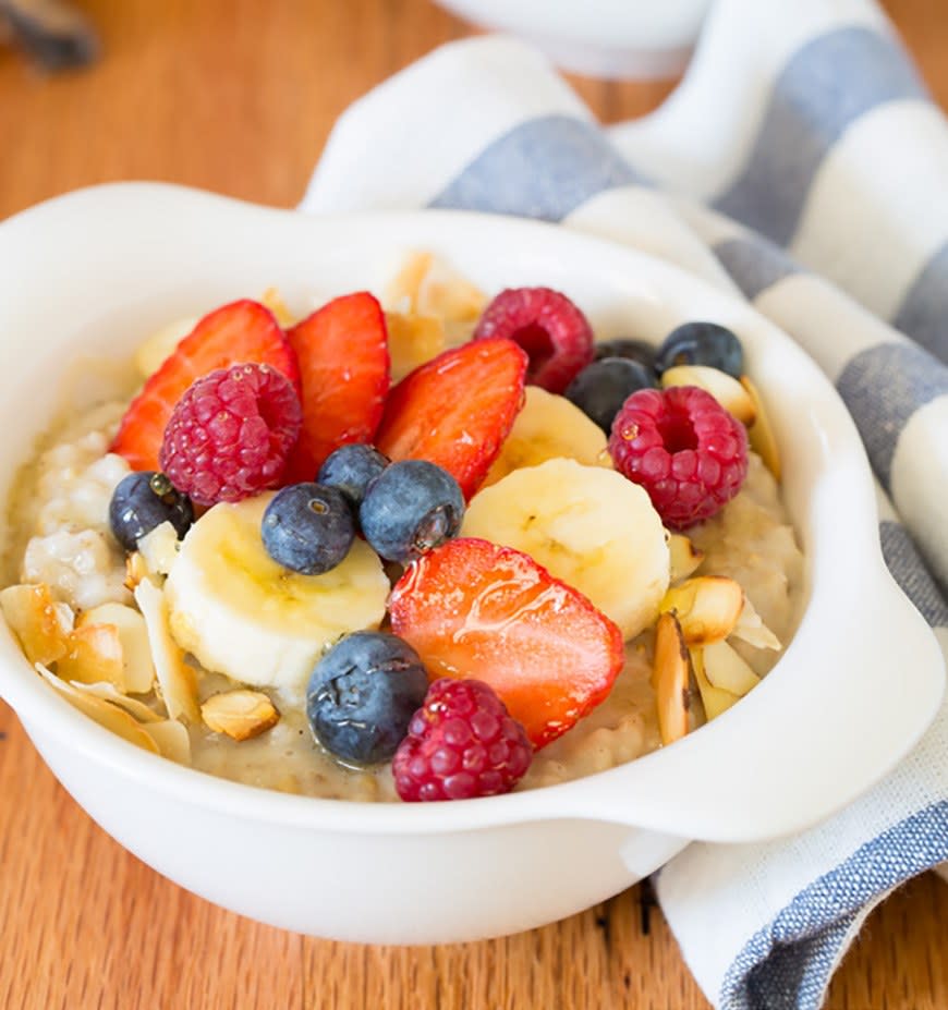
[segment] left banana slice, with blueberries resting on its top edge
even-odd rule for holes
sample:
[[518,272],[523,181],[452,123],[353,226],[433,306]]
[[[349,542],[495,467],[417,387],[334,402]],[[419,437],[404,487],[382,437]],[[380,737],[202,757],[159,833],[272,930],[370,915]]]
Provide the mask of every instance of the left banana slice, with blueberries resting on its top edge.
[[272,497],[206,512],[187,531],[165,592],[172,635],[203,667],[244,684],[301,690],[327,645],[378,628],[389,582],[360,539],[323,575],[278,564],[260,539]]

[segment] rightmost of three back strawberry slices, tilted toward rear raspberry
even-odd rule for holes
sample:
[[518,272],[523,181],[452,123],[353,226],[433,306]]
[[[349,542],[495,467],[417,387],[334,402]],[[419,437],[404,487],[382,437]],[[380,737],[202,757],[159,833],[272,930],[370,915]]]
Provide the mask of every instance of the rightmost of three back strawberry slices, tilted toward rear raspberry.
[[378,450],[390,460],[443,466],[470,498],[523,405],[526,365],[512,340],[475,340],[445,351],[389,393]]

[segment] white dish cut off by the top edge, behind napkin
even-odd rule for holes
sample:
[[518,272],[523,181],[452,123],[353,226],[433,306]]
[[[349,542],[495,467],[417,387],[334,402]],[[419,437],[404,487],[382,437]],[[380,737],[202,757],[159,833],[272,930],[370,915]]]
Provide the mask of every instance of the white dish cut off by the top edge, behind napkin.
[[593,77],[674,77],[710,0],[437,0],[452,13],[531,42],[563,70]]

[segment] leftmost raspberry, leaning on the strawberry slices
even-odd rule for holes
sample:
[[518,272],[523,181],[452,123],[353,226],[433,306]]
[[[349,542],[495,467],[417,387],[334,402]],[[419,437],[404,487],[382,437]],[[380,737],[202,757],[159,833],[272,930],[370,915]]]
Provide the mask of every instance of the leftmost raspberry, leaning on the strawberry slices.
[[301,424],[300,399],[282,373],[248,363],[219,368],[174,406],[161,469],[199,504],[240,501],[276,486]]

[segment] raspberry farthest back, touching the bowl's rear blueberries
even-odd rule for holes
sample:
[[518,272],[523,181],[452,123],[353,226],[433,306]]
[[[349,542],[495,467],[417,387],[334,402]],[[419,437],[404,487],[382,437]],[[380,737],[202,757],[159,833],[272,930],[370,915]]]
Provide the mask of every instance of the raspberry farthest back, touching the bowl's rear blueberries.
[[526,381],[561,393],[593,360],[593,329],[583,313],[551,288],[508,288],[484,309],[474,339],[506,337],[530,358]]

